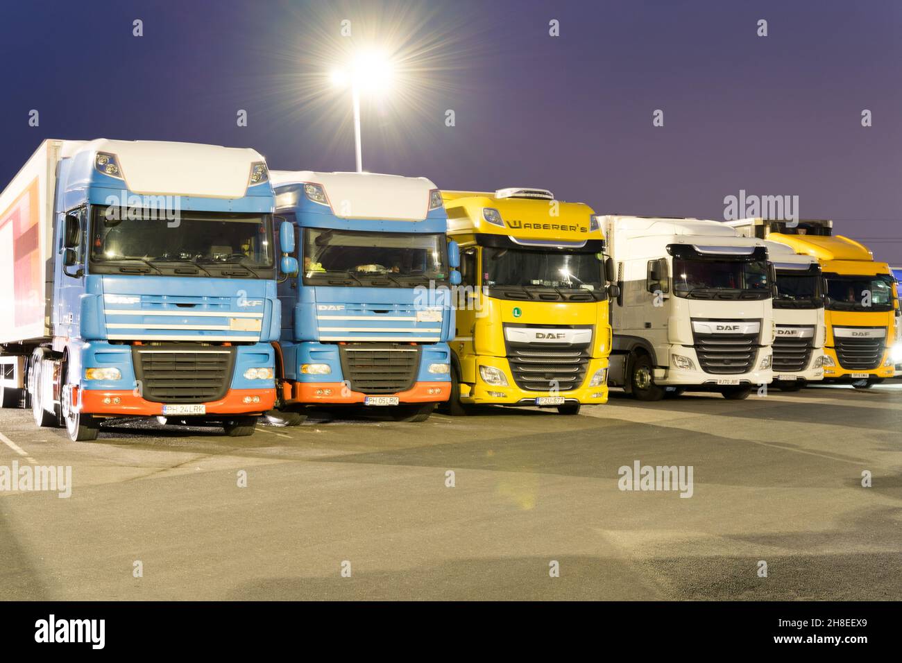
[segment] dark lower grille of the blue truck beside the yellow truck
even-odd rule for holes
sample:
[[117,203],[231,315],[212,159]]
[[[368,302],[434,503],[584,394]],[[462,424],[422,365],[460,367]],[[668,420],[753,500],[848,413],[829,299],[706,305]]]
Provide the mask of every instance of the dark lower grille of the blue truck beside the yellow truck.
[[419,345],[349,343],[338,346],[342,372],[353,391],[398,393],[417,382]]

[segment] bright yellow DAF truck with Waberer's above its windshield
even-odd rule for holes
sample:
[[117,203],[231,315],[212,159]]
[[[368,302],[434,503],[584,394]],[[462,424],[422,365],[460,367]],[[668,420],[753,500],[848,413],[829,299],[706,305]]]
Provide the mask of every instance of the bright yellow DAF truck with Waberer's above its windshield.
[[473,405],[576,414],[608,400],[617,286],[591,207],[546,189],[442,191],[460,245],[452,414]]

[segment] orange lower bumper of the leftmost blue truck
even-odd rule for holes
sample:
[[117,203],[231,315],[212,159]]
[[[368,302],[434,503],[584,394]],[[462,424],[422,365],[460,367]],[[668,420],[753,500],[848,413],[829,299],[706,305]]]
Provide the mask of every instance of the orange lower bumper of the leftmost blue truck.
[[[256,396],[260,401],[245,403],[244,398],[253,399]],[[106,400],[109,399],[107,402]],[[118,399],[118,402],[115,400]],[[81,405],[81,411],[86,414],[154,417],[163,413],[163,403],[145,401],[141,396],[135,396],[133,391],[103,391],[103,390],[78,390],[73,402]],[[266,410],[272,410],[276,402],[274,389],[233,389],[226,393],[225,398],[219,401],[198,403],[207,406],[207,414],[260,414]]]

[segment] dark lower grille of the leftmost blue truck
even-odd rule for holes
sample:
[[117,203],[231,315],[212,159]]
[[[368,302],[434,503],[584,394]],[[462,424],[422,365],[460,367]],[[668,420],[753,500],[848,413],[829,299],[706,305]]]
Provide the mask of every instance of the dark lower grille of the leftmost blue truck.
[[232,383],[235,350],[226,346],[188,350],[178,345],[133,345],[134,375],[146,401],[218,401]]

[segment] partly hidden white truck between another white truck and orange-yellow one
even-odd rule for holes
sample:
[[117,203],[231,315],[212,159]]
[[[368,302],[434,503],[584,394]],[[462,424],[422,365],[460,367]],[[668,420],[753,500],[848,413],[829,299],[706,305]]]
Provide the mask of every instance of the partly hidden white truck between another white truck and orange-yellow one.
[[786,244],[765,242],[777,272],[774,296],[774,384],[796,391],[824,380],[824,284],[821,265]]

